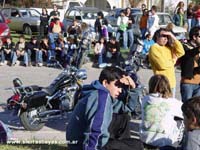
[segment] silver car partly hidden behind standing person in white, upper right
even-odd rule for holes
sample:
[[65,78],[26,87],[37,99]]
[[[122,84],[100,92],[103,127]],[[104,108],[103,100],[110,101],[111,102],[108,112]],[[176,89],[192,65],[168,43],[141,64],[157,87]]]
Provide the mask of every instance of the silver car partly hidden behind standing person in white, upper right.
[[[157,12],[157,15],[159,17],[159,26],[160,28],[165,28],[169,23],[173,23],[173,20],[170,16],[169,13],[164,13],[164,12]],[[140,18],[142,16],[142,13],[134,13],[133,14],[134,19],[135,19],[135,24],[133,24],[133,34],[135,36],[141,36],[140,32],[140,27],[139,27],[139,22]],[[186,39],[186,32],[187,30],[183,27],[179,27],[176,25],[173,25],[173,32],[175,33],[177,39],[179,40],[184,40]]]

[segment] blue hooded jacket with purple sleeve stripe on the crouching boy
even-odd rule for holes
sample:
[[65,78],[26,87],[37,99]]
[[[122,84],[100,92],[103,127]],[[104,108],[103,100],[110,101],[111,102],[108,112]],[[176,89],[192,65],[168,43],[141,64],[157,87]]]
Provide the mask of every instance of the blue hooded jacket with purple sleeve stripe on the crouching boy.
[[79,100],[71,114],[67,126],[66,138],[68,144],[75,144],[77,149],[101,149],[109,139],[108,127],[112,114],[119,110],[132,111],[134,102],[125,107],[119,100],[113,100],[109,91],[99,82],[94,81],[82,90]]

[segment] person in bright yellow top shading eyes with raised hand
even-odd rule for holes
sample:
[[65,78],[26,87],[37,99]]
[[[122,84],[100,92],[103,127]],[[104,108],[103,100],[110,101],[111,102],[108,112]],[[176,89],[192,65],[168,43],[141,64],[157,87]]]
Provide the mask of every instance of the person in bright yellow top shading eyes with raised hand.
[[156,43],[149,50],[149,62],[154,74],[162,74],[168,78],[173,97],[175,97],[176,77],[174,65],[177,59],[185,54],[185,51],[181,42],[176,39],[171,31],[165,28],[157,30],[153,39]]

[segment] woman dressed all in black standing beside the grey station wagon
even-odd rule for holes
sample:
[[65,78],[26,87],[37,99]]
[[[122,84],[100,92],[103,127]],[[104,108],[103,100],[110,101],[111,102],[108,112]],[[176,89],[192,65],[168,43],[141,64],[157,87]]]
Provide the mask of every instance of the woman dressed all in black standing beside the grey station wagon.
[[48,21],[49,15],[45,7],[42,8],[42,14],[40,16],[40,38],[48,34]]

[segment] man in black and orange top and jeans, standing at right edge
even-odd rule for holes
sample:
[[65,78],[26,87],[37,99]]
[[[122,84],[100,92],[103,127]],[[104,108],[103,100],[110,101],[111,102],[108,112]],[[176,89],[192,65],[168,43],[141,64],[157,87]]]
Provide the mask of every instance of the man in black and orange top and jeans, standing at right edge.
[[189,42],[183,45],[185,55],[181,58],[181,97],[185,102],[194,96],[200,96],[200,27],[194,27],[189,33]]

